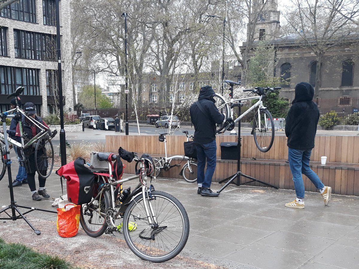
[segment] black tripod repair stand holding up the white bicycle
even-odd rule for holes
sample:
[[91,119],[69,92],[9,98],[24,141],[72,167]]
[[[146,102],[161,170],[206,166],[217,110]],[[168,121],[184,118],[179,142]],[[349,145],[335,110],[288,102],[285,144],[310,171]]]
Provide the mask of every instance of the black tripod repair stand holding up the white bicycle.
[[[235,83],[235,82],[234,82]],[[232,83],[229,84],[230,85],[230,90],[231,90],[231,94],[233,96],[233,85]],[[241,101],[238,102],[238,104],[235,104],[234,106],[238,107],[238,116],[241,115],[241,107],[243,106],[243,103],[241,103]],[[222,192],[222,190],[224,190],[230,183],[232,183],[233,180],[237,179],[236,182],[233,182],[233,184],[239,186],[239,185],[243,185],[243,184],[247,184],[247,183],[251,183],[251,182],[254,182],[254,181],[257,181],[259,183],[262,183],[264,185],[267,185],[268,187],[272,187],[272,188],[275,188],[275,189],[278,189],[278,187],[272,185],[272,184],[269,184],[269,183],[266,183],[264,181],[261,181],[261,180],[258,180],[258,179],[255,179],[255,178],[252,178],[251,176],[248,176],[248,175],[245,175],[241,172],[241,121],[239,120],[238,121],[238,145],[237,145],[237,172],[236,174],[232,175],[232,176],[229,176],[228,178],[226,179],[223,179],[221,181],[219,181],[219,183],[223,183],[224,181],[227,181],[226,184],[223,185],[222,188],[220,188],[217,192],[220,193]],[[243,183],[240,183],[240,179],[241,179],[241,176],[243,176],[244,178],[248,178],[250,179],[250,181],[246,181],[246,182],[243,182]]]

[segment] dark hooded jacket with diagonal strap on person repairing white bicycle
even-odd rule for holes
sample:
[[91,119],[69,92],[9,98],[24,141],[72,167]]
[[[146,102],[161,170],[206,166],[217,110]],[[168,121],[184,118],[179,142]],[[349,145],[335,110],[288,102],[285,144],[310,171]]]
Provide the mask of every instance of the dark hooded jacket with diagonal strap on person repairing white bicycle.
[[211,86],[201,87],[198,102],[202,105],[206,114],[203,114],[196,103],[190,108],[191,121],[195,127],[194,141],[198,144],[212,142],[216,138],[216,123],[224,120],[224,115],[219,113],[213,99],[214,90]]

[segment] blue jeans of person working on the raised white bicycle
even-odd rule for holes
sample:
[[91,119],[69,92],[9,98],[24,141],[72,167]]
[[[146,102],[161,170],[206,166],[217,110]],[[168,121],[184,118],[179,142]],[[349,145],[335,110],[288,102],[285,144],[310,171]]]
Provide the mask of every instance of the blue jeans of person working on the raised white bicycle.
[[[216,169],[216,140],[206,144],[197,144],[197,183],[202,183],[202,188],[210,188],[212,176]],[[206,173],[204,168],[206,166]]]

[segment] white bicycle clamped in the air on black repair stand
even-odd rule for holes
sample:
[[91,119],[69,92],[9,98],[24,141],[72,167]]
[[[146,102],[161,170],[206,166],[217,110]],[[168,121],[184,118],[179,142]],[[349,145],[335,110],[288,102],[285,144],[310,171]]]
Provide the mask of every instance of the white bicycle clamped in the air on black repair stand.
[[[241,119],[251,111],[257,110],[253,118],[251,134],[253,135],[258,150],[260,150],[261,152],[269,151],[274,142],[274,123],[273,117],[271,113],[267,110],[267,108],[263,105],[263,101],[265,100],[267,94],[278,92],[277,90],[281,89],[281,87],[256,87],[255,89],[247,89],[243,91],[251,91],[252,93],[255,93],[257,95],[246,98],[233,99],[233,86],[239,85],[239,83],[231,80],[225,80],[224,82],[226,82],[230,86],[230,100],[226,101],[225,98],[218,93],[214,95],[216,107],[225,116],[222,126],[217,129],[217,133],[232,131],[234,129],[234,124],[241,121]],[[239,117],[233,121],[233,108],[242,107],[242,101],[253,99],[258,99],[258,102],[253,104],[245,112],[241,113]]]

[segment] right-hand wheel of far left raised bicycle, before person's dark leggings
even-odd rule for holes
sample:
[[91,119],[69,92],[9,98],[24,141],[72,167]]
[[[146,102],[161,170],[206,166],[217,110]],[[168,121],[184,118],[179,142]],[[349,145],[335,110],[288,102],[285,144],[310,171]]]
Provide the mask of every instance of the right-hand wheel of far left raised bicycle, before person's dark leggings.
[[41,139],[35,147],[35,167],[36,171],[43,178],[47,178],[53,168],[53,146],[51,140]]

